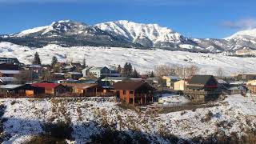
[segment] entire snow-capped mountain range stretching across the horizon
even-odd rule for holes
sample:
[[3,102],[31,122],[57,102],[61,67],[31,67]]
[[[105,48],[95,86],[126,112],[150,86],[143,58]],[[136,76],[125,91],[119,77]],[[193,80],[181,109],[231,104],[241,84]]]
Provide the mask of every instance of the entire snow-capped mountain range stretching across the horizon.
[[2,35],[0,42],[22,46],[118,46],[140,49],[160,48],[190,52],[256,55],[256,29],[242,30],[228,38],[186,38],[182,34],[158,24],[142,24],[126,20],[103,22],[94,26],[70,20],[53,22]]

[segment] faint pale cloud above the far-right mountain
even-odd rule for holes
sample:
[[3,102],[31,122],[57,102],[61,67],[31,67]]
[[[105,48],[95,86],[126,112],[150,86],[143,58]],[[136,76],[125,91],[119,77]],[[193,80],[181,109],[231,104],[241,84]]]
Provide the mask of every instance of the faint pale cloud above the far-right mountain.
[[234,22],[226,21],[222,22],[220,25],[231,29],[252,29],[256,27],[256,19],[245,18]]

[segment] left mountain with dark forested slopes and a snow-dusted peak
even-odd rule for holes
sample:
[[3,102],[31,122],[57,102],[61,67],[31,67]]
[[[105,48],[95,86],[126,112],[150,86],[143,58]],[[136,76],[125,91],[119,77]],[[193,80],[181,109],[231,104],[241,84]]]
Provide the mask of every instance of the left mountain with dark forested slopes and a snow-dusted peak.
[[42,47],[48,44],[60,46],[133,46],[133,43],[115,38],[97,26],[88,26],[82,22],[70,20],[53,22],[50,26],[23,30],[3,38],[23,46]]

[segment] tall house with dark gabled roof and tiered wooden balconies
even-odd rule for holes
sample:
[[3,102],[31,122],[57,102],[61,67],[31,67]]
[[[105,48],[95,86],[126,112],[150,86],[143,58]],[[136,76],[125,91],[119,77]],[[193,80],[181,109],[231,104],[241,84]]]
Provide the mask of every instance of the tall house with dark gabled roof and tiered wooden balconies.
[[194,75],[187,83],[184,94],[192,102],[207,102],[219,98],[222,91],[212,75]]

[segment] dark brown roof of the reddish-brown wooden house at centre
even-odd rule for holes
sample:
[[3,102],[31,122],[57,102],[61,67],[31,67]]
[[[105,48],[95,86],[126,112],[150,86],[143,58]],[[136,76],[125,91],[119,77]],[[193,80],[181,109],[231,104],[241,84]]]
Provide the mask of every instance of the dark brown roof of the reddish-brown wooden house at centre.
[[149,89],[154,89],[147,82],[142,81],[122,81],[114,83],[113,87],[115,90],[138,90],[140,87],[146,86]]

